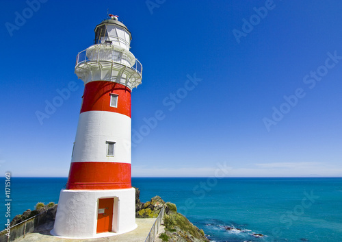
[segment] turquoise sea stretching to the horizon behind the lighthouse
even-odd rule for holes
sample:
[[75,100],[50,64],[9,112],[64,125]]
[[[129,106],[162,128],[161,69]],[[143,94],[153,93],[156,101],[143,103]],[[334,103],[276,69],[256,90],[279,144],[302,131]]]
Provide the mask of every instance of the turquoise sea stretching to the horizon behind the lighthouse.
[[[66,180],[12,178],[12,217],[57,203]],[[211,241],[342,242],[342,178],[132,178],[132,185],[142,202],[159,195],[176,204]],[[0,218],[4,224],[5,206]]]

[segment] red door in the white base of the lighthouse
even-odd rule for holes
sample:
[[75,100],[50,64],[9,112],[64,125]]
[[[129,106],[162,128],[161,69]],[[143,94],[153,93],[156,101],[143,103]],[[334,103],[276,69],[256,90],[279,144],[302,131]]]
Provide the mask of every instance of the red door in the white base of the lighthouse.
[[102,198],[98,200],[97,233],[110,232],[113,221],[114,198]]

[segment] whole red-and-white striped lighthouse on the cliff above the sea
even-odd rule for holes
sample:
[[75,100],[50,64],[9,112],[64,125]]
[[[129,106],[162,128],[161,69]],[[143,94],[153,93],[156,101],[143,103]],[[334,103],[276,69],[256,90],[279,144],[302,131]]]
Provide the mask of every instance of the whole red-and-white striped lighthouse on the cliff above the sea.
[[94,45],[79,52],[84,82],[66,189],[51,234],[86,239],[134,230],[131,186],[131,91],[142,65],[130,51],[131,32],[118,16],[96,25]]

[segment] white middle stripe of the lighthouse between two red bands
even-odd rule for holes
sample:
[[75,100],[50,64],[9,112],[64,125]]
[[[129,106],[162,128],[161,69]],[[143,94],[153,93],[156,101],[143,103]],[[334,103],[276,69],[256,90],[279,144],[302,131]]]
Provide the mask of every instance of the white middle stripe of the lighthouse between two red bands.
[[[106,141],[114,141],[114,157],[107,156]],[[123,162],[131,164],[131,118],[107,111],[79,114],[71,162]]]

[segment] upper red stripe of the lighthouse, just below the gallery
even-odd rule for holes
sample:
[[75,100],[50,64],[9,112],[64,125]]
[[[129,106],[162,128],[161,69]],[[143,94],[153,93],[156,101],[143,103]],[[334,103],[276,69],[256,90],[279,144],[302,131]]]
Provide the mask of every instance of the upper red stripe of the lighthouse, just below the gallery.
[[[110,106],[110,94],[118,95],[118,107]],[[88,82],[84,86],[81,112],[118,112],[131,117],[131,90],[122,84],[107,81]]]

